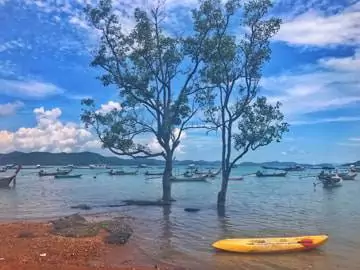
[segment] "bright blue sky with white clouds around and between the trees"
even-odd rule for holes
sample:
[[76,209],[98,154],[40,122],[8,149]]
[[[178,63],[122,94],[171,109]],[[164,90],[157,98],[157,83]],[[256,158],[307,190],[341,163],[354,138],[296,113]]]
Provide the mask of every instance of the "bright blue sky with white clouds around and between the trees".
[[[0,0],[0,152],[101,150],[80,121],[80,100],[118,106],[89,67],[96,33],[82,8],[95,0]],[[152,0],[115,1],[131,11]],[[196,0],[166,1],[173,27]],[[244,161],[345,162],[360,159],[360,1],[276,0],[283,19],[272,40],[262,94],[283,103],[283,142]],[[131,28],[131,19],[124,19]],[[144,138],[155,145],[153,138]],[[156,147],[156,146],[155,146]],[[188,132],[177,159],[218,160],[216,135]]]

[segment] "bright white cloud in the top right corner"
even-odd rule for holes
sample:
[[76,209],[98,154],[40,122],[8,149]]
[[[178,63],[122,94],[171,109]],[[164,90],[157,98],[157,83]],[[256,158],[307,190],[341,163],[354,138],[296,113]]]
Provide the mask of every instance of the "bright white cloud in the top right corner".
[[307,10],[282,24],[275,40],[292,45],[337,46],[360,43],[359,3],[327,15],[319,10]]

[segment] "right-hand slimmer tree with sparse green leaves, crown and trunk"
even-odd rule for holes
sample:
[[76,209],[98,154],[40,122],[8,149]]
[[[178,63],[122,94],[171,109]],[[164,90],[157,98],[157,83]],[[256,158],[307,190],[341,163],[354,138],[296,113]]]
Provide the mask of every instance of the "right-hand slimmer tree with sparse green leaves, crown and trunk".
[[[205,0],[202,16],[214,21],[205,41],[202,83],[204,122],[221,133],[222,188],[225,203],[231,169],[248,151],[280,141],[288,130],[280,103],[260,94],[262,68],[270,59],[270,39],[280,19],[268,16],[270,0]],[[237,29],[237,31],[234,31]],[[233,151],[236,150],[236,151]]]

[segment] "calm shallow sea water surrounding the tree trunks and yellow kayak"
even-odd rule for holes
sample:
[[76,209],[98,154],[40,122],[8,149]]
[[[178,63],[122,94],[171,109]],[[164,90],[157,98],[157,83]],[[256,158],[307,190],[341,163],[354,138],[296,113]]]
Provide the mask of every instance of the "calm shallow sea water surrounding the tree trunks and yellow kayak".
[[[234,175],[255,172],[240,167]],[[130,170],[130,169],[129,169]],[[155,170],[155,169],[154,169]],[[109,176],[104,170],[75,170],[81,179],[39,178],[23,170],[16,189],[0,190],[0,218],[48,218],[76,212],[71,205],[94,206],[86,213],[118,211],[136,217],[136,236],[144,252],[194,269],[358,269],[360,256],[360,181],[340,188],[314,190],[313,179],[299,173],[285,178],[256,178],[229,184],[225,217],[218,217],[216,194],[220,179],[209,183],[173,184],[177,200],[161,207],[106,208],[123,199],[158,199],[161,180],[138,176]],[[308,174],[313,172],[304,172]],[[94,179],[93,176],[97,175]],[[184,212],[198,207],[198,213]],[[114,214],[116,215],[116,213]],[[210,244],[226,237],[329,234],[319,251],[276,256],[217,253]],[[156,245],[154,245],[154,243]],[[158,248],[154,248],[158,247]]]

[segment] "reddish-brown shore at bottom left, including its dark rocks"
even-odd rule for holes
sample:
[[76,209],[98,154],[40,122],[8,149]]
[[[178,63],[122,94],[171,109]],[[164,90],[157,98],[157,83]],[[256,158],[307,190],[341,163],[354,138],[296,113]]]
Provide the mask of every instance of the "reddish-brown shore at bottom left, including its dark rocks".
[[122,218],[89,222],[77,214],[50,222],[2,223],[0,269],[184,269],[141,253],[133,233]]

